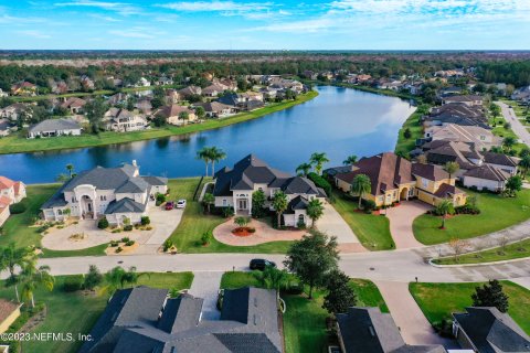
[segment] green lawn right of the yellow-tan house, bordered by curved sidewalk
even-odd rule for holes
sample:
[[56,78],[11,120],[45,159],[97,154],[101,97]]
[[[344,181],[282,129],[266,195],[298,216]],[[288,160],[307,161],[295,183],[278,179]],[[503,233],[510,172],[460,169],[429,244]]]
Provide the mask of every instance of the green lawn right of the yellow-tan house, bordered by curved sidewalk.
[[530,218],[530,190],[522,190],[517,197],[502,197],[468,190],[466,192],[477,197],[480,214],[451,217],[446,222],[446,229],[439,229],[441,217],[421,215],[413,223],[414,236],[420,243],[432,245],[446,243],[452,238],[471,238]]

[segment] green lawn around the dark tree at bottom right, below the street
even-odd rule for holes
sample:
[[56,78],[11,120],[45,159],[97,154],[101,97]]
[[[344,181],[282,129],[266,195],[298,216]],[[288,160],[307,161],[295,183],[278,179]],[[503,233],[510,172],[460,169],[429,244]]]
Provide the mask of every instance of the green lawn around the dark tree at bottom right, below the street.
[[[475,287],[483,284],[410,284],[409,290],[431,323],[451,319],[453,312],[464,312],[473,306]],[[530,290],[502,281],[509,299],[509,315],[530,334]]]

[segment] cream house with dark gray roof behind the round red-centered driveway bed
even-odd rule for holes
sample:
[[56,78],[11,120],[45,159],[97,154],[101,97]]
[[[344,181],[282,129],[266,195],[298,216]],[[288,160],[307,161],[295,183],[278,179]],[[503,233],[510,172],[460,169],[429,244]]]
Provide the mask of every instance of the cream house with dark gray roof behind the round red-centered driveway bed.
[[326,192],[317,188],[312,181],[304,176],[292,176],[268,167],[254,154],[248,154],[234,164],[215,173],[216,207],[233,207],[236,214],[252,214],[252,194],[263,191],[267,197],[266,206],[273,211],[271,200],[277,191],[286,193],[289,201],[287,211],[283,214],[286,226],[308,224],[307,204],[312,199],[324,201]]

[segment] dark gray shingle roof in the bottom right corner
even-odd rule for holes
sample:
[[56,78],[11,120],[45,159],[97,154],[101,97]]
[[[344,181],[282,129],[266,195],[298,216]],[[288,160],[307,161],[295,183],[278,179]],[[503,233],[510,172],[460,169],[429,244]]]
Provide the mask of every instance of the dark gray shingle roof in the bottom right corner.
[[480,353],[530,352],[530,336],[497,308],[466,308],[454,313],[458,325]]

